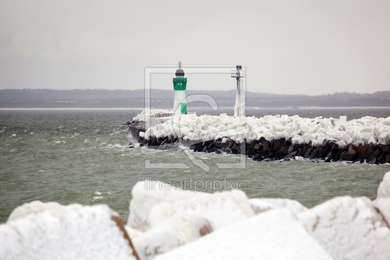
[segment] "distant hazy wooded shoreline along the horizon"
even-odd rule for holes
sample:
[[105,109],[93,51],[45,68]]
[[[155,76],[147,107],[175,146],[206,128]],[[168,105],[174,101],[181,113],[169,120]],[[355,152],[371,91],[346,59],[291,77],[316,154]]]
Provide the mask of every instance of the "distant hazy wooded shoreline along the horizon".
[[[142,108],[144,89],[4,89],[0,90],[0,108]],[[186,90],[187,96],[207,94],[215,98],[218,106],[234,106],[236,90]],[[151,89],[151,106],[171,108],[174,90]],[[194,102],[188,106],[205,106]],[[246,106],[259,108],[286,108],[319,106],[390,106],[390,91],[375,93],[337,92],[328,95],[281,95],[246,92]]]

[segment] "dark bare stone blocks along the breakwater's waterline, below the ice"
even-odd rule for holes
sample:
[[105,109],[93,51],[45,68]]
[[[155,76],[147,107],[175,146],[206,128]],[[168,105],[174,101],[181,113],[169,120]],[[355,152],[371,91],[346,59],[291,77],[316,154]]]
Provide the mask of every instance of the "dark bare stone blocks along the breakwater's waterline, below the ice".
[[[131,129],[131,130],[130,130]],[[129,127],[131,133],[139,133],[139,130],[132,126]],[[139,136],[137,141],[141,146],[150,149],[167,150],[179,147],[179,145],[189,146],[194,152],[222,152],[228,154],[245,154],[254,161],[290,161],[296,157],[305,159],[321,159],[325,162],[350,161],[353,163],[384,164],[390,163],[390,145],[358,145],[349,144],[344,148],[339,147],[334,141],[324,140],[321,145],[312,147],[312,143],[293,144],[292,138],[280,138],[279,140],[268,141],[264,137],[260,140],[234,141],[229,137],[218,138],[204,142],[194,140],[179,140],[174,138],[170,140],[165,137],[152,137],[148,139]],[[241,151],[241,149],[244,149]]]

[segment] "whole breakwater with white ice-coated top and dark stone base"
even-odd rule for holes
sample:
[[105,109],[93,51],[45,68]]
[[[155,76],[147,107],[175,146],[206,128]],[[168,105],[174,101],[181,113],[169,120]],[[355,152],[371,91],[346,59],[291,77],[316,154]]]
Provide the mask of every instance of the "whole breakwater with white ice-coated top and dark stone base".
[[[148,124],[152,122],[149,118],[159,115],[158,121]],[[129,132],[148,148],[167,150],[184,145],[195,152],[245,154],[254,161],[299,157],[325,162],[390,162],[390,117],[347,121],[346,116],[164,115],[166,110],[144,110],[128,122]]]

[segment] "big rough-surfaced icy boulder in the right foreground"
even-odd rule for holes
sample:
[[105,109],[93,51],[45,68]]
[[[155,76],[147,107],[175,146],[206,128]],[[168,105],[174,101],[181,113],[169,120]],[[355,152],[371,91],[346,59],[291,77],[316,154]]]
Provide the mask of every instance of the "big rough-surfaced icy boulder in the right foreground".
[[335,259],[390,259],[390,230],[366,197],[336,197],[298,214]]

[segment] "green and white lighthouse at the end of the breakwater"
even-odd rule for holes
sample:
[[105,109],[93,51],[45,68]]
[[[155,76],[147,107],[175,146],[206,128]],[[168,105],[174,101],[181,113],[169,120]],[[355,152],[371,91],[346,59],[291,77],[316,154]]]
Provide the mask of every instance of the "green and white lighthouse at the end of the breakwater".
[[175,99],[173,104],[173,110],[176,111],[180,107],[182,114],[187,114],[186,104],[186,87],[187,78],[184,78],[184,71],[181,69],[183,64],[179,62],[179,69],[176,70],[176,78],[173,78],[173,88],[175,90]]

